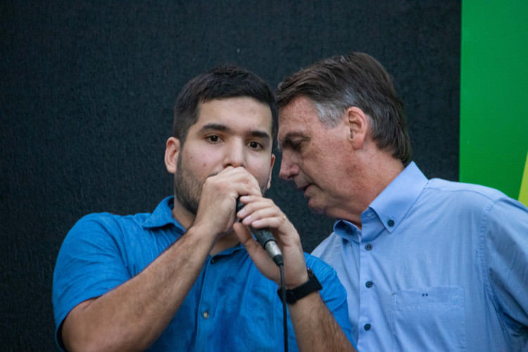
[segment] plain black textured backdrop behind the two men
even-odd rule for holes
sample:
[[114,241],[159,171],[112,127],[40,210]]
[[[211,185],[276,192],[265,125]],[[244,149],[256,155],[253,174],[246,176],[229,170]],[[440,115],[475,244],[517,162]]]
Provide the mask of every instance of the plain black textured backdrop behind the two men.
[[[82,215],[151,211],[182,84],[219,63],[272,87],[365,51],[395,77],[414,160],[458,179],[460,1],[1,1],[0,349],[49,351],[51,280]],[[332,220],[278,178],[268,195],[311,251]]]

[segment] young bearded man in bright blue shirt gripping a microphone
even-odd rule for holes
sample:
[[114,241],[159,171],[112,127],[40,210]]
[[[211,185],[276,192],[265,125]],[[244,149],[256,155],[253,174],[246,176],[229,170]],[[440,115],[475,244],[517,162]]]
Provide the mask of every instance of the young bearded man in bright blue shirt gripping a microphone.
[[[286,215],[263,197],[276,134],[275,99],[256,75],[222,66],[188,82],[165,151],[175,196],[153,213],[88,215],[65,238],[53,292],[61,347],[282,348],[279,270],[251,237],[251,225],[275,235],[286,288],[304,288],[303,297],[289,300],[291,350],[353,350],[335,272],[303,253]],[[238,199],[245,206],[237,212]]]

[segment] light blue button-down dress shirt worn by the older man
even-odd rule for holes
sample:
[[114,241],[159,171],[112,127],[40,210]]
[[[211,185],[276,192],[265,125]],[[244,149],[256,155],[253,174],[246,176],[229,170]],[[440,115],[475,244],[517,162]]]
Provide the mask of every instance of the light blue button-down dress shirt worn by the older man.
[[411,163],[313,251],[348,294],[358,351],[528,351],[528,209]]

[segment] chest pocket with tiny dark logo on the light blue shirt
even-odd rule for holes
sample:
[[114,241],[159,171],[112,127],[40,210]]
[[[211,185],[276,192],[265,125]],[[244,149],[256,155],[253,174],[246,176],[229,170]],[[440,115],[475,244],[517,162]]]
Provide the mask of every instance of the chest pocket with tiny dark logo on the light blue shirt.
[[464,289],[397,291],[392,299],[393,351],[465,351]]

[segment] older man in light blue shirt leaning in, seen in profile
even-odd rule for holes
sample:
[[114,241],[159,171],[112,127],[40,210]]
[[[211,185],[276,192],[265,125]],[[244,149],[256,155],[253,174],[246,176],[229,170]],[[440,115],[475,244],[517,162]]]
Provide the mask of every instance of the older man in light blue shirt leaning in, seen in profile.
[[277,100],[281,177],[340,219],[313,254],[346,287],[358,351],[528,351],[528,209],[427,180],[367,54],[301,70]]

